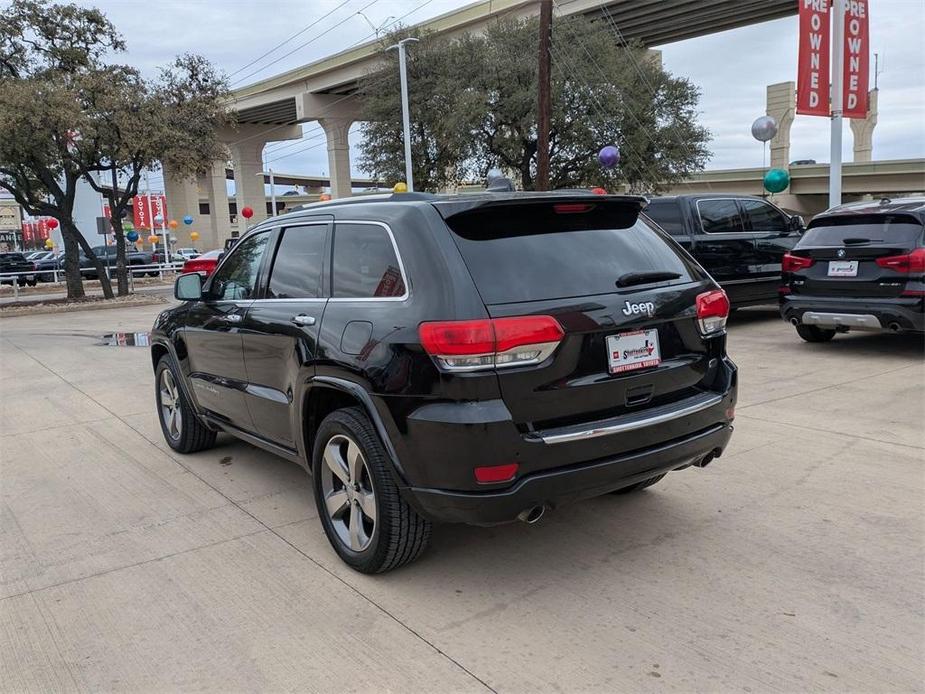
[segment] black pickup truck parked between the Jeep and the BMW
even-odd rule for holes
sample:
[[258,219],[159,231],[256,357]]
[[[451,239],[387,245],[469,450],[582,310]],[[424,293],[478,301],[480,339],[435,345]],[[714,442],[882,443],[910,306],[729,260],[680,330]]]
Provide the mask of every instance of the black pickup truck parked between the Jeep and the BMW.
[[734,308],[777,303],[781,259],[803,231],[801,217],[752,195],[652,198],[645,215],[690,251]]

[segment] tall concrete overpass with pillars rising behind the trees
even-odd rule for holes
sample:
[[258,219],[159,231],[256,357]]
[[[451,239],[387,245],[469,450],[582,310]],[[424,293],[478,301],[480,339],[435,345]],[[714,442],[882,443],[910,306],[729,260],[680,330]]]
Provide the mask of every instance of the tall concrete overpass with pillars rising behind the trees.
[[[622,40],[639,40],[654,47],[794,15],[797,0],[556,0],[555,9],[557,16],[609,17],[619,28]],[[418,26],[453,37],[478,32],[502,17],[522,18],[538,12],[536,0],[480,0]],[[326,139],[332,194],[350,194],[347,133],[361,112],[355,92],[359,80],[375,70],[381,60],[378,41],[368,41],[235,91],[239,126],[225,133],[223,139],[231,153],[236,207],[252,207],[255,221],[265,217],[265,191],[259,178],[263,149],[270,142],[301,139],[301,124],[313,121]],[[197,214],[200,191],[210,209],[228,206],[225,168],[226,162],[215,162],[199,180],[178,179],[165,171],[171,213],[198,216],[202,223],[197,226],[205,245],[219,243],[231,233],[231,223],[224,215],[203,219]]]

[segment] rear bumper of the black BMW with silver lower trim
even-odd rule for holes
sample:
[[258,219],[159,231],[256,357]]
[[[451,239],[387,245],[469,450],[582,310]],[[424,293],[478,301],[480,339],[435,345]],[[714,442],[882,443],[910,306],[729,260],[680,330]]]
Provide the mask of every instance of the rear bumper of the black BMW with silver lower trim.
[[925,331],[925,299],[869,299],[785,295],[780,313],[786,321],[841,330]]

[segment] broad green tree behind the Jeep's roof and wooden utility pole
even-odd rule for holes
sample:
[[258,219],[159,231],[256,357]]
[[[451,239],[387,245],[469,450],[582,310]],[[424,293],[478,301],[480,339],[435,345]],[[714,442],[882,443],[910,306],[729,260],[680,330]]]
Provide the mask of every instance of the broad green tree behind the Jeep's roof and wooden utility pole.
[[[424,36],[409,51],[412,151],[418,188],[484,176],[501,167],[531,190],[536,175],[536,20],[501,20],[484,34]],[[699,92],[640,45],[618,45],[605,22],[557,20],[552,34],[550,182],[657,191],[703,168],[709,133],[697,124]],[[426,91],[426,89],[431,91]],[[360,165],[403,178],[397,64],[366,79]],[[424,92],[424,93],[419,93]],[[446,143],[434,147],[431,142]],[[620,147],[605,170],[597,152]],[[422,150],[441,157],[424,156]],[[418,181],[421,181],[419,184]]]

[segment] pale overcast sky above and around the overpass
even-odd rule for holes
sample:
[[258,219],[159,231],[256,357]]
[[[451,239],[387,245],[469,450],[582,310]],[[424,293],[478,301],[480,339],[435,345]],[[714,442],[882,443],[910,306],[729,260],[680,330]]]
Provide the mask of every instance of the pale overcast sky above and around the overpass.
[[[0,7],[3,4],[0,0]],[[79,4],[102,9],[125,36],[128,51],[116,60],[153,75],[158,66],[169,62],[175,54],[197,52],[232,75],[234,86],[242,86],[369,40],[373,35],[371,25],[380,27],[396,18],[413,24],[467,3],[463,0],[79,0]],[[925,2],[871,0],[870,4],[872,53],[879,53],[881,58],[880,115],[874,131],[874,158],[923,157]],[[357,14],[360,10],[368,21]],[[324,15],[328,16],[319,21]],[[313,26],[241,70],[309,25]],[[675,75],[689,78],[701,89],[701,122],[713,136],[709,145],[713,158],[708,168],[760,166],[761,145],[752,139],[749,129],[752,121],[765,111],[766,86],[796,79],[796,16],[660,48],[664,66]],[[297,50],[292,55],[268,65],[293,49]],[[871,55],[871,70],[873,63]],[[256,74],[251,74],[255,71]],[[314,124],[306,124],[304,129],[317,130]],[[828,133],[828,119],[797,117],[791,131],[790,158],[828,161]],[[357,137],[354,133],[352,144],[355,145]],[[320,146],[299,151],[313,144]],[[846,161],[851,159],[851,147],[851,132],[846,124]],[[277,171],[320,174],[328,168],[323,140],[285,149],[270,146],[266,156],[275,158],[273,167]]]

